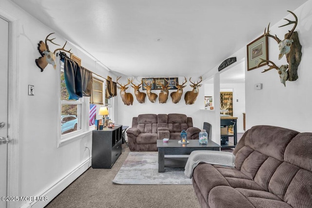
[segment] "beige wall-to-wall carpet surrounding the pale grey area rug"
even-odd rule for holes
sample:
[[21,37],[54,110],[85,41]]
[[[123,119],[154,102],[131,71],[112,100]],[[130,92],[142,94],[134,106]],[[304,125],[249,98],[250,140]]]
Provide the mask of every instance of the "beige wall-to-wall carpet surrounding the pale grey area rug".
[[112,181],[129,148],[112,169],[89,169],[47,208],[200,208],[193,185],[117,185]]

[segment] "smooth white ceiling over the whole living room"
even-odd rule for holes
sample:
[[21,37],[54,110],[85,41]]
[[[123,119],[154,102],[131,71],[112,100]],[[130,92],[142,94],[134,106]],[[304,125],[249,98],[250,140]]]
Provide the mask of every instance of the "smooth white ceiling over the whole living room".
[[111,71],[196,77],[307,0],[12,1]]

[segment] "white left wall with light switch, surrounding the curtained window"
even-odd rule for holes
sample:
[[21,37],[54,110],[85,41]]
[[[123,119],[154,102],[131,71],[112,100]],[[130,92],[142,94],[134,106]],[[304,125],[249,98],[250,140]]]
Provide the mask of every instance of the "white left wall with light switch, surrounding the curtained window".
[[[0,9],[19,21],[19,81],[15,83],[18,85],[19,95],[19,129],[11,127],[15,128],[14,131],[19,135],[18,138],[13,138],[19,145],[17,196],[40,196],[88,160],[89,152],[85,150],[84,144],[87,143],[91,150],[92,134],[57,148],[59,99],[56,92],[59,90],[59,77],[51,65],[40,72],[35,63],[35,59],[40,57],[37,50],[39,40],[44,40],[48,34],[55,31],[28,15],[10,0],[1,0]],[[65,43],[58,34],[54,34],[53,37],[56,38],[55,42]],[[82,59],[82,66],[103,77],[112,76],[103,66],[96,65],[92,58],[70,43],[67,47],[72,48],[71,52]],[[50,49],[55,48],[51,45]],[[28,85],[35,86],[35,96],[28,96]],[[24,203],[26,202],[19,201],[14,207],[20,207]]]

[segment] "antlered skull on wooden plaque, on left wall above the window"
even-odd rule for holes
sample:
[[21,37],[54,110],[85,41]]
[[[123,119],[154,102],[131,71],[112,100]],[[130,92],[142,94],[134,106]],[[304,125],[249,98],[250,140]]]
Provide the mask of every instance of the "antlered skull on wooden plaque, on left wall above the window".
[[49,50],[49,46],[48,46],[48,41],[55,44],[55,45],[58,45],[59,44],[56,44],[53,42],[53,40],[55,38],[52,38],[52,39],[48,39],[50,35],[52,35],[54,33],[50,33],[44,40],[44,42],[42,40],[40,40],[40,42],[38,43],[38,51],[41,55],[41,57],[37,58],[36,59],[36,65],[40,68],[41,72],[43,72],[44,68],[48,65],[48,64],[52,64],[53,68],[56,69],[56,62],[55,62],[55,53],[57,51],[65,51],[65,52],[68,52],[70,54],[72,54],[70,52],[70,49],[69,51],[65,50],[64,47],[67,43],[67,41],[65,42],[64,46],[62,48],[57,48],[54,50],[54,52],[52,53],[50,50]]

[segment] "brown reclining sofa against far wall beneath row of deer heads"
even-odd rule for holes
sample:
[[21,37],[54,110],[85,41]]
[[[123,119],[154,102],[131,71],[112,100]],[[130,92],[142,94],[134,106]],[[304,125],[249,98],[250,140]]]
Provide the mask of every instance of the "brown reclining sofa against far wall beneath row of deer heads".
[[192,118],[185,114],[140,114],[126,131],[130,151],[157,151],[157,139],[180,139],[183,129],[187,139],[198,139],[200,129],[193,127]]

